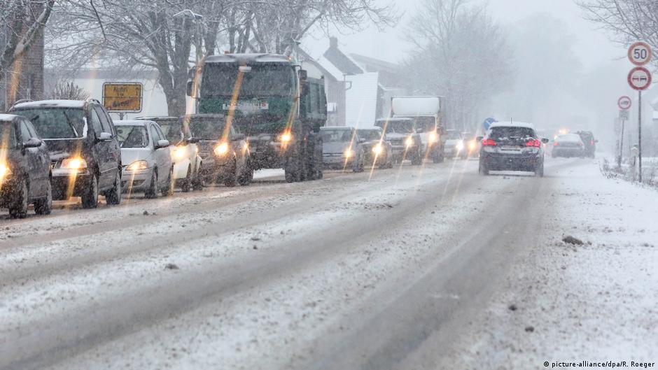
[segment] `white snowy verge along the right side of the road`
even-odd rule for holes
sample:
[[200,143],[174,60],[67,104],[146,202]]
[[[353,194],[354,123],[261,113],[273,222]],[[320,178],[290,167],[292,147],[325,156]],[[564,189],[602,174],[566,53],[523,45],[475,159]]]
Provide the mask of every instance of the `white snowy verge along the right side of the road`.
[[545,242],[519,256],[508,292],[465,328],[440,367],[658,364],[658,192],[603,178],[595,166],[568,171],[552,194],[559,211],[538,230]]

